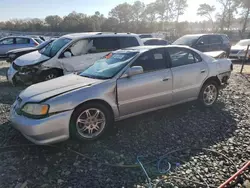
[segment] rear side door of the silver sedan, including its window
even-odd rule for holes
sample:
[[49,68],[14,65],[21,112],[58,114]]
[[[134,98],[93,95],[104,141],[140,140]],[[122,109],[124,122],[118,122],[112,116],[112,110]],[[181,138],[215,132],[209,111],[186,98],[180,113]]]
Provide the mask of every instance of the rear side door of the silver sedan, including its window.
[[173,74],[173,103],[198,97],[208,67],[199,54],[186,48],[168,48]]

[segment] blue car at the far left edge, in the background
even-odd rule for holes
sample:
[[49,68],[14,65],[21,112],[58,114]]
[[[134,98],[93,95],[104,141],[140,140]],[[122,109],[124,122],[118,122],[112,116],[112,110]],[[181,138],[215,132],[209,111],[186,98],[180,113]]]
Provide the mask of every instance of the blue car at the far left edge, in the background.
[[0,39],[0,57],[7,57],[10,50],[26,47],[34,47],[42,43],[40,38],[24,36],[10,36]]

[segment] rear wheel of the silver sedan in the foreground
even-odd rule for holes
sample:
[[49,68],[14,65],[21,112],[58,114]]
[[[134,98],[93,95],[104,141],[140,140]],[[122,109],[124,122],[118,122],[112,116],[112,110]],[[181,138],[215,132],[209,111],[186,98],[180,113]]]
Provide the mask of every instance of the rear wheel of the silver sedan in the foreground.
[[205,107],[211,107],[217,101],[219,87],[215,81],[204,83],[199,94],[199,101]]

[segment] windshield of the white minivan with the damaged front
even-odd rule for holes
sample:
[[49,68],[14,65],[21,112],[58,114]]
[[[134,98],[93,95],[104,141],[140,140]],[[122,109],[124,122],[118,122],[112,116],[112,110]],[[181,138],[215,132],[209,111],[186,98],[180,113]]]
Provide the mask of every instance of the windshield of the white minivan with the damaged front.
[[44,49],[40,51],[41,54],[46,55],[48,57],[54,57],[59,50],[61,50],[65,45],[67,45],[71,39],[68,38],[60,38],[50,43]]

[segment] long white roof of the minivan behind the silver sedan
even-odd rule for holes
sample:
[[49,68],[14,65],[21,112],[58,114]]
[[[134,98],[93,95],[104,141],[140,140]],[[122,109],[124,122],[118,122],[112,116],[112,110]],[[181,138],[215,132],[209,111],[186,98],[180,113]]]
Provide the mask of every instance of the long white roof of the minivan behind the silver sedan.
[[100,37],[107,37],[107,36],[137,36],[133,33],[110,33],[110,32],[85,32],[85,33],[72,33],[63,35],[62,37],[70,38],[70,39],[80,39],[85,37],[91,36],[100,36]]

